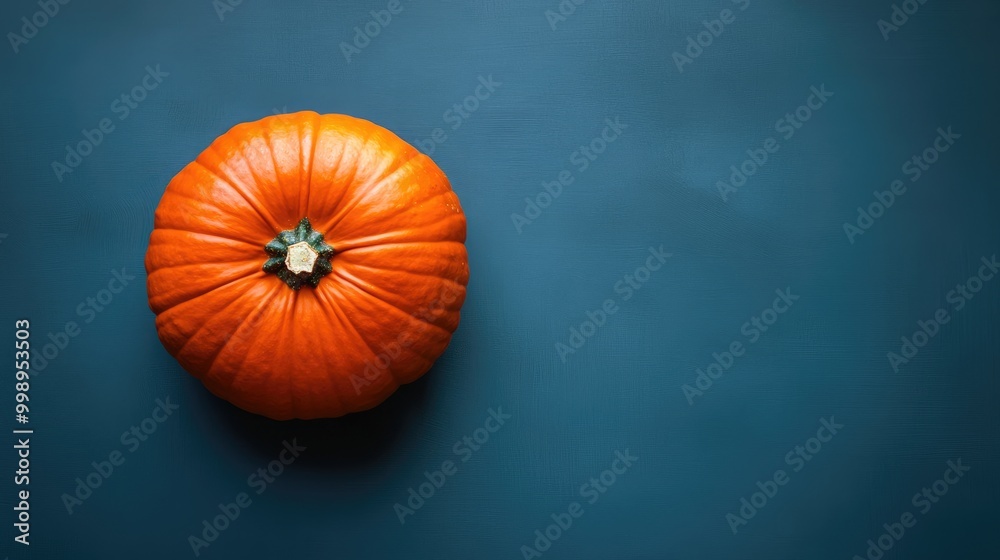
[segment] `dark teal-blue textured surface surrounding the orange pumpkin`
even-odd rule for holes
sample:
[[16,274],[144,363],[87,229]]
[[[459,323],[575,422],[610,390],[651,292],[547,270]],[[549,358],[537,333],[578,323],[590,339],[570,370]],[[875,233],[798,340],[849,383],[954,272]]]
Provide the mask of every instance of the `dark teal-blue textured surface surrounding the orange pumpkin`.
[[[188,558],[202,520],[250,492],[201,557],[521,558],[573,501],[584,515],[544,558],[849,559],[905,511],[917,524],[885,558],[995,557],[1000,279],[898,372],[886,353],[1000,250],[996,2],[928,0],[885,40],[888,1],[590,0],[553,29],[556,0],[404,0],[348,62],[341,43],[387,4],[245,0],[220,19],[209,0],[75,1],[4,45],[0,332],[28,318],[36,349],[67,321],[80,333],[32,378],[30,548],[0,446],[0,554]],[[679,71],[672,54],[725,8],[735,21]],[[4,2],[0,30],[38,9]],[[111,103],[156,64],[169,76],[119,120]],[[452,130],[444,112],[489,75],[502,85]],[[775,122],[823,84],[782,139]],[[472,279],[421,381],[369,413],[279,423],[167,355],[142,262],[173,174],[236,123],[306,109],[411,142],[445,129],[433,158],[468,216]],[[579,171],[570,154],[614,117],[628,128]],[[59,181],[52,162],[103,118],[114,131]],[[947,126],[961,138],[911,183],[901,165]],[[779,151],[724,201],[716,182],[768,137]],[[518,233],[511,214],[562,170],[573,184]],[[843,224],[895,179],[906,193],[849,242]],[[661,245],[673,256],[624,301],[616,282]],[[135,280],[84,323],[122,267]],[[786,287],[800,299],[689,403],[682,386]],[[618,312],[561,360],[609,298]],[[120,434],[166,397],[179,410],[129,453]],[[491,407],[512,418],[401,525],[393,504],[460,460]],[[791,472],[831,415],[845,427]],[[247,477],[292,438],[307,450],[257,495]],[[638,461],[586,503],[626,449]],[[115,450],[124,464],[68,514],[61,496]],[[911,496],[956,459],[971,471],[920,515]],[[790,482],[734,535],[726,514],[781,468]]]

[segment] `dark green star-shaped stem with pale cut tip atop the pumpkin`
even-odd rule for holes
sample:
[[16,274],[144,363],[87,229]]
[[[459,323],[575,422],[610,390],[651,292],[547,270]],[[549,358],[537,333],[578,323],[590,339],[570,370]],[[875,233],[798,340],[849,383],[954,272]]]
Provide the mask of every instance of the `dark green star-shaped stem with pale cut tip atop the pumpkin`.
[[288,287],[298,290],[303,284],[315,288],[320,278],[333,267],[330,259],[336,251],[323,242],[323,234],[313,230],[309,218],[302,218],[295,229],[286,229],[264,245],[269,259],[264,272],[276,275]]

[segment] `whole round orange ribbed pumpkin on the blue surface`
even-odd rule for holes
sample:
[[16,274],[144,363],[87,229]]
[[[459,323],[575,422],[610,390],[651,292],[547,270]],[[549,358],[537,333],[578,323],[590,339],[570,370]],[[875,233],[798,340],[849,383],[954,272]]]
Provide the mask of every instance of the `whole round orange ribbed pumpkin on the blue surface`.
[[441,169],[378,125],[313,112],[239,124],[156,209],[157,334],[244,410],[372,408],[426,373],[458,327],[465,227]]

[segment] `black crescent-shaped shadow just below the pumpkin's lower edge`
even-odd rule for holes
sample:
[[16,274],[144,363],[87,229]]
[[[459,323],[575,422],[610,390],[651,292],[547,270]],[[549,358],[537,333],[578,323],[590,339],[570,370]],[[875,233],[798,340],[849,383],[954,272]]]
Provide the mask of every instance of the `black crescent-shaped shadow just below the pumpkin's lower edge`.
[[205,413],[218,431],[228,432],[262,461],[276,458],[280,442],[296,439],[309,450],[307,462],[313,468],[353,471],[368,468],[390,451],[404,425],[426,409],[434,377],[432,369],[370,410],[317,420],[272,420],[202,392],[207,394]]

